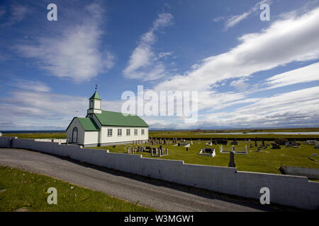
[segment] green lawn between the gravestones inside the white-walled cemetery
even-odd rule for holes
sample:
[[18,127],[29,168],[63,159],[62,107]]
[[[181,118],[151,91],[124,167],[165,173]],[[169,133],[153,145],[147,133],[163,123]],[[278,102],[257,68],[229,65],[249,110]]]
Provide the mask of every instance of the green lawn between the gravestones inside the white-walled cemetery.
[[[185,163],[198,164],[198,165],[215,165],[227,167],[229,163],[229,154],[220,153],[220,145],[207,146],[206,141],[193,141],[194,145],[191,145],[189,151],[182,146],[173,145],[163,145],[163,148],[169,148],[169,155],[160,157],[161,159],[170,160],[184,160]],[[272,142],[265,142],[270,144]],[[262,142],[257,142],[257,145],[262,144]],[[299,148],[286,148],[281,146],[280,150],[273,150],[271,146],[267,148],[262,148],[257,152],[257,147],[254,147],[254,142],[252,142],[253,147],[250,148],[249,141],[240,141],[239,145],[235,147],[239,149],[244,149],[247,145],[248,154],[247,155],[235,155],[236,167],[240,171],[248,172],[266,172],[272,174],[281,174],[279,171],[280,165],[289,165],[294,167],[312,167],[319,168],[319,157],[313,157],[312,153],[318,153],[319,150],[314,148],[314,145],[308,145],[306,143],[301,143]],[[135,145],[138,146],[138,145]],[[145,145],[144,145],[145,146]],[[151,147],[158,147],[159,145],[150,145]],[[223,145],[223,148],[231,148],[232,145]],[[198,155],[201,148],[215,148],[216,156],[207,157],[203,155]],[[99,149],[108,149],[110,152],[114,153],[125,153],[124,145],[99,147]],[[142,155],[142,157],[151,157],[150,153],[136,153],[137,155]],[[310,160],[308,157],[317,160],[315,162]]]

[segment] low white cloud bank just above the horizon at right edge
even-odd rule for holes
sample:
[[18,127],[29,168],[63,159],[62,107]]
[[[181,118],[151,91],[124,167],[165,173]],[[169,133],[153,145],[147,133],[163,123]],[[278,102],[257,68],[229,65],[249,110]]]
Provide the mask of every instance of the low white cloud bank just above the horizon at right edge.
[[317,86],[263,97],[233,112],[210,114],[206,123],[233,127],[318,126],[318,96]]

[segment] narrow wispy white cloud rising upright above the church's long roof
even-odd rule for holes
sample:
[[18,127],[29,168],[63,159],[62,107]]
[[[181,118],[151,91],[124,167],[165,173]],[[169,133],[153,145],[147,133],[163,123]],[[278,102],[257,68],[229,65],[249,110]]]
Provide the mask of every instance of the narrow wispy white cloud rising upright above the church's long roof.
[[160,58],[171,55],[171,52],[161,52],[156,54],[152,50],[152,44],[155,44],[157,36],[155,32],[172,24],[173,16],[170,13],[160,13],[153,22],[152,28],[140,37],[138,47],[133,50],[130,56],[128,66],[123,70],[126,78],[155,80],[165,76],[166,69],[164,64],[159,61]]

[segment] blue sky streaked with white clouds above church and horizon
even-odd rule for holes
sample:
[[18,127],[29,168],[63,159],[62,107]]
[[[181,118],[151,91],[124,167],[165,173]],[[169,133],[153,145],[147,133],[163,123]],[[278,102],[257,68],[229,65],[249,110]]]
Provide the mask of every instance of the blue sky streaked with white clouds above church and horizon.
[[113,111],[138,85],[198,92],[195,124],[151,129],[319,126],[318,21],[315,0],[1,1],[0,131],[66,129],[96,83]]

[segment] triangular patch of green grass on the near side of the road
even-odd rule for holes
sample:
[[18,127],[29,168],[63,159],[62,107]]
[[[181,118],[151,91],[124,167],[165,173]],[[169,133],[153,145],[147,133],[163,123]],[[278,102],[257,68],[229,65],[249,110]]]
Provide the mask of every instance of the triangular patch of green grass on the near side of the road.
[[[57,205],[47,203],[47,189],[57,189]],[[1,191],[2,190],[2,191]],[[91,191],[81,186],[62,182],[52,177],[0,166],[0,211],[154,211]]]

